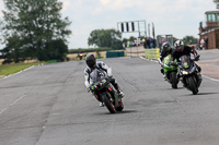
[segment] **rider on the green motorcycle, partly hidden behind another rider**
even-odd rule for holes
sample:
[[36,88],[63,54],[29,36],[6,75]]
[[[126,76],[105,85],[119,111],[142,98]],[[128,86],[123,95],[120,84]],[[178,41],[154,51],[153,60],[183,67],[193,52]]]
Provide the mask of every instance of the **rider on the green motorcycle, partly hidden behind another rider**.
[[163,71],[163,62],[162,61],[168,55],[171,55],[172,51],[173,51],[173,49],[171,48],[171,44],[169,41],[163,43],[162,50],[160,52],[160,58],[159,58],[158,62],[161,65],[161,73],[163,74],[163,77],[165,80],[166,80],[166,76],[165,76],[164,71]]

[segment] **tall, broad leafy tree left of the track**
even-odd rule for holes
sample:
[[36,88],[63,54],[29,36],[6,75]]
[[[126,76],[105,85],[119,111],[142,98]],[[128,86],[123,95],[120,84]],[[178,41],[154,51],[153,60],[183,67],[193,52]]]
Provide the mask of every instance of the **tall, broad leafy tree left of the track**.
[[[62,3],[58,0],[3,0],[3,2],[7,10],[2,11],[4,23],[1,29],[4,31],[3,43],[9,53],[16,53],[18,49],[25,57],[45,60],[46,56],[50,56],[47,44],[60,43],[60,39],[61,43],[67,43],[66,37],[71,34],[68,29],[70,22],[68,17],[61,20]],[[11,39],[16,39],[18,44],[12,44],[14,40]]]

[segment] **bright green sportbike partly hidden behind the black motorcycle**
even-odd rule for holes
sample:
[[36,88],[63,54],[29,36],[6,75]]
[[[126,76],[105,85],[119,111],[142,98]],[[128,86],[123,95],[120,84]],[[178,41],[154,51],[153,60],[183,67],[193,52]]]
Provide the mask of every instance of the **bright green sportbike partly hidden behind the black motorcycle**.
[[166,77],[166,81],[172,85],[172,88],[177,88],[178,78],[176,76],[176,73],[177,73],[178,67],[171,65],[170,60],[171,60],[171,55],[168,55],[164,58],[164,63],[163,63],[164,75]]

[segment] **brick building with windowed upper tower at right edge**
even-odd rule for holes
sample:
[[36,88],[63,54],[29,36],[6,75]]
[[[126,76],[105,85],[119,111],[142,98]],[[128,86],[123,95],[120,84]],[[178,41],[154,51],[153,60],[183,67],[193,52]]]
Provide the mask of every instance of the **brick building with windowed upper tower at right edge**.
[[206,22],[199,23],[199,41],[208,38],[208,49],[219,49],[219,11],[207,11]]

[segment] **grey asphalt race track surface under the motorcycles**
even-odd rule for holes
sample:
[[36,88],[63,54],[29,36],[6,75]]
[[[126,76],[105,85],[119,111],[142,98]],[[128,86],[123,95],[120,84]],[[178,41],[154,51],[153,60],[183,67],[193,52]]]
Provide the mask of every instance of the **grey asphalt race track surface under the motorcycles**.
[[219,82],[198,95],[162,78],[158,63],[104,59],[125,93],[111,114],[84,87],[84,61],[34,67],[0,80],[0,145],[218,145]]

